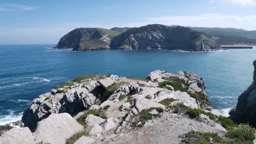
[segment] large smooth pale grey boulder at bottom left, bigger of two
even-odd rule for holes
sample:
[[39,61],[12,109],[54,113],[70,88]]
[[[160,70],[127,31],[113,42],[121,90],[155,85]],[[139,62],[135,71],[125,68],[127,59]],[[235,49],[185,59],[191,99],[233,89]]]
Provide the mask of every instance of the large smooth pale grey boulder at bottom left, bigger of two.
[[80,125],[68,113],[51,114],[37,123],[33,135],[37,143],[47,141],[51,144],[65,144],[66,139],[82,130],[83,125]]

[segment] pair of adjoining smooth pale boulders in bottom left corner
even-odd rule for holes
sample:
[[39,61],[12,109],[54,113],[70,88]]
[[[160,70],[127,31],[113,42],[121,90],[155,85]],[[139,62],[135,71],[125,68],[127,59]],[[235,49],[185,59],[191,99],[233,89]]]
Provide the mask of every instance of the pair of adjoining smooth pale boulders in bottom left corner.
[[83,126],[69,114],[52,114],[37,123],[32,133],[29,128],[12,128],[0,137],[0,144],[38,144],[43,141],[51,144],[65,144],[73,134],[82,131]]

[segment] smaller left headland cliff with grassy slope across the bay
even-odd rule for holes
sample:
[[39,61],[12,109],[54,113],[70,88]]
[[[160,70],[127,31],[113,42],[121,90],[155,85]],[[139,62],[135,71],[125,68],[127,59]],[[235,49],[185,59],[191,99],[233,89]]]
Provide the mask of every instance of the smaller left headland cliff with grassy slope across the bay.
[[103,50],[110,48],[117,31],[99,28],[78,28],[64,35],[55,48],[72,48],[73,51]]

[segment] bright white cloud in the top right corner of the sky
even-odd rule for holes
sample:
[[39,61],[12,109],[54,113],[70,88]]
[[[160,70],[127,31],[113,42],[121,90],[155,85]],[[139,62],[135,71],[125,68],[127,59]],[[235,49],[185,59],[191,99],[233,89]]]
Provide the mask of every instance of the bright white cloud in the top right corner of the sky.
[[256,0],[210,0],[211,3],[234,3],[241,6],[256,6]]

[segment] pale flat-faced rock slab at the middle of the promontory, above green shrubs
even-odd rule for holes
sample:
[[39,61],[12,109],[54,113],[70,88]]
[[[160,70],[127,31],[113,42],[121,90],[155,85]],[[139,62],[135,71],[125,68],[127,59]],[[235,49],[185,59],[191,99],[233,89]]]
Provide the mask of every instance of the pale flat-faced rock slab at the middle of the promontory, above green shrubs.
[[136,108],[138,112],[141,112],[143,109],[149,109],[150,107],[161,107],[165,109],[165,106],[163,104],[159,104],[158,102],[151,101],[143,97],[136,97],[133,101],[133,106]]

